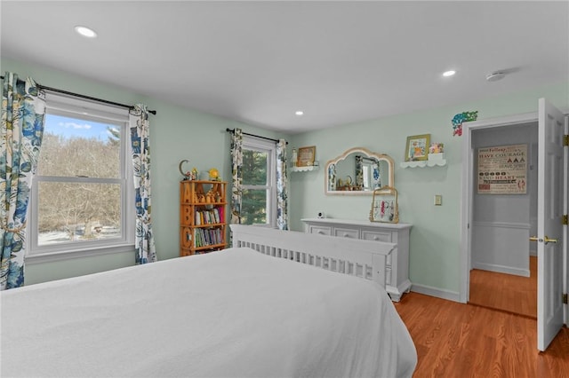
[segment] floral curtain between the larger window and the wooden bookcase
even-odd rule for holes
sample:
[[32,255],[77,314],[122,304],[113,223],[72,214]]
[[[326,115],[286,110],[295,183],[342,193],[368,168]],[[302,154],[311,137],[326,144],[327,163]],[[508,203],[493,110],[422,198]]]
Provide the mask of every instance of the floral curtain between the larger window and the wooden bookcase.
[[132,167],[136,205],[136,264],[158,260],[152,233],[150,202],[150,124],[147,106],[136,104],[130,111]]

